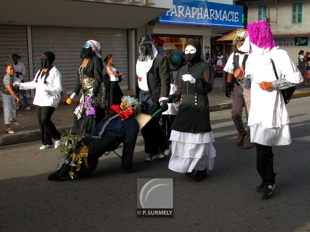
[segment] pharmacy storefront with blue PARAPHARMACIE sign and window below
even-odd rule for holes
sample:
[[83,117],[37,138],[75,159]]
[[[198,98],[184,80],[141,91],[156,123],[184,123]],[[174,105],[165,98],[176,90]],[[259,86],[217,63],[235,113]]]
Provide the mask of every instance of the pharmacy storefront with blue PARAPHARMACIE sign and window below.
[[202,58],[211,52],[211,38],[224,31],[242,26],[241,6],[201,0],[173,0],[172,8],[158,18],[149,29],[159,51],[169,57],[171,69],[176,70],[184,61],[186,42],[197,39],[202,44]]

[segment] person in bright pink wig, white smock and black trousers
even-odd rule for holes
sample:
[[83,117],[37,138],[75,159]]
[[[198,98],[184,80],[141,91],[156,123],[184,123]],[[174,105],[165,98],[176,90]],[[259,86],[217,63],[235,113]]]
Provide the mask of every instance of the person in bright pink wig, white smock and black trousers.
[[256,146],[256,167],[262,178],[262,184],[255,190],[267,198],[276,183],[272,146],[291,143],[289,114],[280,90],[302,82],[303,77],[287,52],[276,46],[269,24],[263,20],[252,22],[247,33],[241,48],[249,52],[247,69],[244,71],[241,66],[234,77],[251,90],[248,126],[251,142]]

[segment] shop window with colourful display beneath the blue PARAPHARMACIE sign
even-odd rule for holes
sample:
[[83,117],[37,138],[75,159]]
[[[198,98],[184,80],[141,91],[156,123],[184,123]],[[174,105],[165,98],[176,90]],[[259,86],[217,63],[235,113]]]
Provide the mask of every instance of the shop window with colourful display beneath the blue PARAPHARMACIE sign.
[[202,41],[198,37],[152,36],[152,38],[158,51],[168,58],[171,70],[177,70],[186,64],[184,50],[188,41],[191,39]]

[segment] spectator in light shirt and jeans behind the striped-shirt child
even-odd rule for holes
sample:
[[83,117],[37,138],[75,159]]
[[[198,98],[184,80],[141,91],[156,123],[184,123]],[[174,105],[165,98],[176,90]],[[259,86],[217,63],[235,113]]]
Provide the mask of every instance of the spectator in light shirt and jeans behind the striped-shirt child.
[[[26,74],[26,69],[25,69],[25,65],[22,62],[19,62],[19,59],[21,57],[18,54],[13,54],[12,55],[12,60],[14,62],[14,70],[15,70],[15,75],[16,77],[22,82],[24,83],[24,77],[23,75]],[[24,100],[24,108],[27,110],[30,110],[30,104],[28,102],[28,98],[26,96],[26,91],[25,90],[19,90],[18,88],[16,89],[15,93],[16,95],[19,97],[19,91],[21,92],[22,96],[23,96],[23,100]],[[19,108],[19,107],[18,107]]]

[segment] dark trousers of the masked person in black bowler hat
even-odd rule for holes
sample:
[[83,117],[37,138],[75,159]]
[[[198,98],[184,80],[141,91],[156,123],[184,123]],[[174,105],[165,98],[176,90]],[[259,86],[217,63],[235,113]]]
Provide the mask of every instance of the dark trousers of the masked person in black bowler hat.
[[[144,108],[141,108],[141,113],[152,115],[160,108],[159,103],[152,101],[149,91],[140,90],[139,100],[144,106]],[[165,151],[169,147],[169,140],[163,128],[159,125],[159,119],[160,115],[152,118],[141,130],[145,153],[150,155],[157,155],[158,148],[161,151]]]

